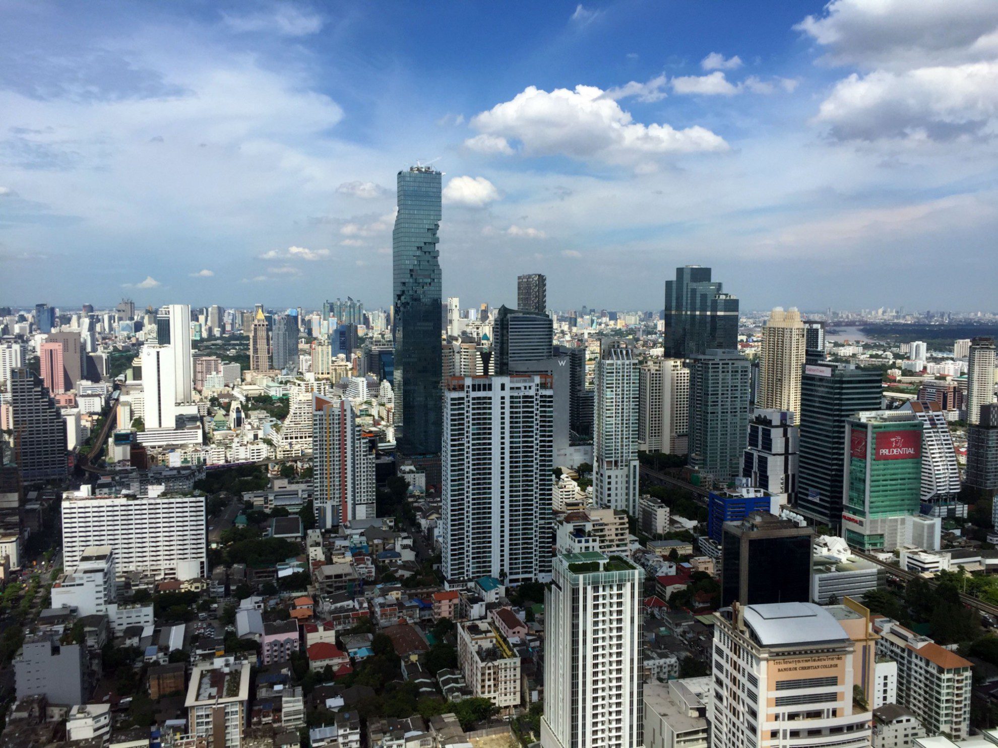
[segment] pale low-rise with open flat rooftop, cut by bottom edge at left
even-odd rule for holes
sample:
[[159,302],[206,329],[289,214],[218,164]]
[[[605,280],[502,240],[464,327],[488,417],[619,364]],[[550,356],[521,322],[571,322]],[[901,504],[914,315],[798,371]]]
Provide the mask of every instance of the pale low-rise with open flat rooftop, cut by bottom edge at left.
[[188,729],[206,748],[240,748],[250,702],[250,662],[195,665],[185,706]]

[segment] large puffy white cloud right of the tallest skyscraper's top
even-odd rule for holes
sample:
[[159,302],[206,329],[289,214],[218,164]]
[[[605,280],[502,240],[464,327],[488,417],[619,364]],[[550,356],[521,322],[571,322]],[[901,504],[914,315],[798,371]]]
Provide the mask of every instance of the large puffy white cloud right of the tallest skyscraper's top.
[[673,154],[728,150],[725,140],[706,128],[636,123],[595,86],[551,92],[530,86],[476,115],[471,126],[508,144],[518,142],[526,156],[562,155],[608,164],[635,166]]

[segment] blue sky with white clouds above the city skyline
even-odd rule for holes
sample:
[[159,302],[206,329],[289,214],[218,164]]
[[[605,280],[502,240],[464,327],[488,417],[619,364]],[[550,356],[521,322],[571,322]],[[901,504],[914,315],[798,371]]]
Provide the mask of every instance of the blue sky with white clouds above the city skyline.
[[0,0],[3,303],[995,309],[998,3]]

